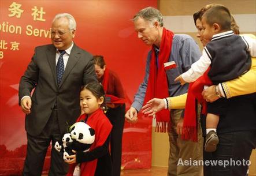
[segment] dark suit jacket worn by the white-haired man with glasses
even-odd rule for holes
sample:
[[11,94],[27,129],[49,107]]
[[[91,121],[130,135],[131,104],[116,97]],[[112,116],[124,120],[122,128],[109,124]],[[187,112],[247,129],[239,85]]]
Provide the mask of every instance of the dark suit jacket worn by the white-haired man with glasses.
[[92,55],[74,43],[58,87],[55,55],[53,44],[36,47],[32,61],[20,80],[19,102],[23,96],[31,96],[35,88],[31,97],[31,113],[25,118],[25,129],[32,136],[42,132],[55,103],[60,130],[65,133],[66,122],[72,125],[80,115],[81,85],[97,81]]

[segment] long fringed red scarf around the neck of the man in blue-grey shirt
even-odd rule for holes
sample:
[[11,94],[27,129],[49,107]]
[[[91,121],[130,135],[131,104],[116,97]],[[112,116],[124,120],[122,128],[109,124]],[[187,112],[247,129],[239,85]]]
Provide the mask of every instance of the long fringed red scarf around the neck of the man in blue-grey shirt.
[[[147,83],[147,91],[144,98],[144,103],[152,98],[166,98],[169,96],[168,80],[164,69],[164,63],[169,61],[170,52],[172,50],[172,39],[174,33],[163,29],[162,40],[158,54],[158,66],[155,58],[155,49],[151,49],[151,61],[149,70],[149,81]],[[170,130],[170,112],[162,110],[156,114],[157,132],[168,132]]]

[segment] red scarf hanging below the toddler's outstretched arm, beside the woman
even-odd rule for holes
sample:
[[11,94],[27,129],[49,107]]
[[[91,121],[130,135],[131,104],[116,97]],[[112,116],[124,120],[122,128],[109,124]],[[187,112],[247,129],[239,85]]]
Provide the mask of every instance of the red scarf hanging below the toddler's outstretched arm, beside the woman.
[[206,114],[206,101],[203,99],[202,91],[204,85],[212,85],[212,81],[208,77],[210,67],[203,76],[199,77],[194,83],[190,83],[188,87],[187,100],[185,102],[185,114],[183,123],[182,138],[184,140],[197,141],[197,103],[202,105],[202,114]]

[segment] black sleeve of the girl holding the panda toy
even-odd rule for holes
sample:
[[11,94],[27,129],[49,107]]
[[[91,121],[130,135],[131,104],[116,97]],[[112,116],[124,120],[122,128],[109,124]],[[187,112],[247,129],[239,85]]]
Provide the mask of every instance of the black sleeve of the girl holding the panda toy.
[[92,151],[88,151],[88,152],[77,151],[76,162],[77,163],[90,162],[92,160],[101,158],[102,156],[106,155],[106,153],[109,152],[109,141],[110,141],[110,134],[102,146],[94,148],[92,149]]

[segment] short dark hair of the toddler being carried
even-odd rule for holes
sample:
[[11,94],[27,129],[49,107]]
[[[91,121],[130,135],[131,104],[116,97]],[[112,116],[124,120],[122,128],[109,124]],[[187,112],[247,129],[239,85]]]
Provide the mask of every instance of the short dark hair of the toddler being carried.
[[232,17],[228,8],[224,6],[214,6],[207,10],[202,18],[206,18],[206,23],[209,25],[213,25],[217,23],[220,25],[221,30],[231,30]]

